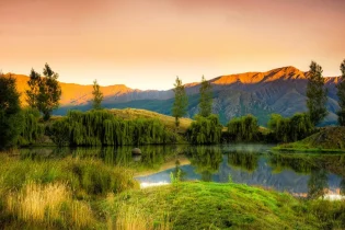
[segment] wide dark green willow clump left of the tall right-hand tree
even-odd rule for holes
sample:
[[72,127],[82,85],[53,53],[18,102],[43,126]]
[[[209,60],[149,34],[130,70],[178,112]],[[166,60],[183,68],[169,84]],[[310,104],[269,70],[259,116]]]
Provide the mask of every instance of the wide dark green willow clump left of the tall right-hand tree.
[[308,114],[295,114],[289,118],[279,114],[272,114],[268,127],[276,141],[280,142],[301,140],[313,131],[313,125]]

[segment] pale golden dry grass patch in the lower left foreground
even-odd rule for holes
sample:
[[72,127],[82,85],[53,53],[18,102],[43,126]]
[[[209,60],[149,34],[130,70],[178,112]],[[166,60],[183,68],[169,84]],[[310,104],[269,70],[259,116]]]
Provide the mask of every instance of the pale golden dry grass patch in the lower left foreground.
[[27,183],[20,192],[7,195],[5,210],[13,217],[32,223],[71,225],[76,228],[92,226],[91,207],[83,202],[72,200],[65,183],[46,185]]

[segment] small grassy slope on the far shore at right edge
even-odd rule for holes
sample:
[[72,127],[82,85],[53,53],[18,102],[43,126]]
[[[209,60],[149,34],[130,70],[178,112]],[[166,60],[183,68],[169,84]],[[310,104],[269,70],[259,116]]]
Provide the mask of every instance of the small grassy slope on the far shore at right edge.
[[345,152],[345,127],[324,127],[303,140],[280,145],[278,150],[288,151],[341,151]]

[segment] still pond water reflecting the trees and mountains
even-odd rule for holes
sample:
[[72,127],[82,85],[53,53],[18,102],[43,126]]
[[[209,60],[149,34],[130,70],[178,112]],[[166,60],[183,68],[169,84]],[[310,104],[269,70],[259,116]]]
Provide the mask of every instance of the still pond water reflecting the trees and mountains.
[[141,185],[170,183],[180,171],[182,181],[242,183],[295,196],[320,197],[345,192],[345,154],[272,152],[268,145],[143,146],[22,149],[20,158],[99,158],[110,165],[134,169]]

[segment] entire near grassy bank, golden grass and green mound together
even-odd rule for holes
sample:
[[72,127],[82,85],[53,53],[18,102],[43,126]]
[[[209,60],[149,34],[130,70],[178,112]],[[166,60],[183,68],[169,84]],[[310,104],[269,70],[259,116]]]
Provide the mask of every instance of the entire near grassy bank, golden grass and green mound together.
[[80,158],[0,154],[3,229],[344,229],[345,203],[241,184],[138,189],[133,171]]

